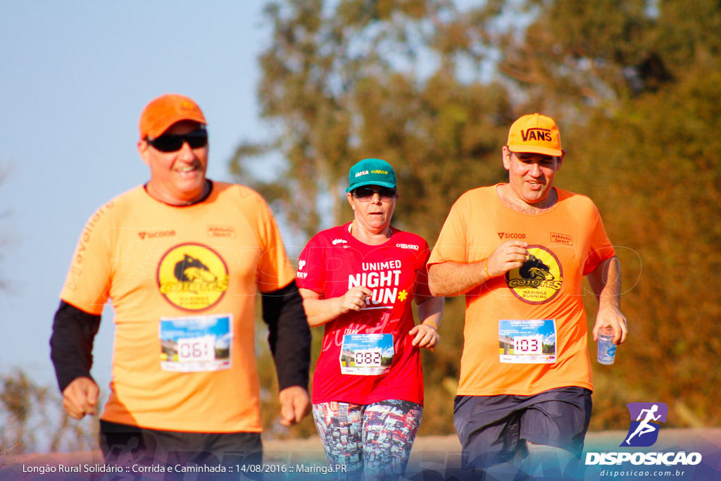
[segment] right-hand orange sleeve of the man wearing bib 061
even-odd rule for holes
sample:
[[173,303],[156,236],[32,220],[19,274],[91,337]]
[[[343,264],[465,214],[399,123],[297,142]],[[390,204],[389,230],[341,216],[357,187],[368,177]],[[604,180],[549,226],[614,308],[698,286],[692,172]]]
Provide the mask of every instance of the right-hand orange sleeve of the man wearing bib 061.
[[262,245],[260,265],[258,265],[258,290],[263,293],[278,291],[288,286],[296,278],[296,271],[286,255],[280,229],[265,200],[258,196],[258,232]]

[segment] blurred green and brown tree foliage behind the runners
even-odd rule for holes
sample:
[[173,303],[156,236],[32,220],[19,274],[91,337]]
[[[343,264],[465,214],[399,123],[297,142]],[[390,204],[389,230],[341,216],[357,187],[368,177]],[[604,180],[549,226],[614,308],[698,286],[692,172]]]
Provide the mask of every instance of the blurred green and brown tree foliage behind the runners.
[[[399,177],[394,224],[433,245],[461,193],[507,179],[510,123],[552,115],[568,152],[557,185],[601,209],[632,326],[616,364],[594,365],[591,428],[622,427],[625,404],[646,400],[667,402],[671,424],[720,422],[718,1],[290,0],[266,17],[258,94],[274,133],[239,147],[241,182],[309,238],[351,219],[348,169],[379,157]],[[285,170],[253,180],[248,159],[269,152]],[[441,345],[424,353],[422,433],[453,432],[463,309],[447,301]]]

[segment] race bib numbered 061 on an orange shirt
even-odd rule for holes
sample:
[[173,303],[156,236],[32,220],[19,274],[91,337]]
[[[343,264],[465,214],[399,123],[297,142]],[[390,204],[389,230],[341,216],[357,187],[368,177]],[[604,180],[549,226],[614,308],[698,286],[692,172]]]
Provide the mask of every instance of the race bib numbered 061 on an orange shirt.
[[231,366],[231,314],[162,317],[159,333],[163,371],[219,371]]

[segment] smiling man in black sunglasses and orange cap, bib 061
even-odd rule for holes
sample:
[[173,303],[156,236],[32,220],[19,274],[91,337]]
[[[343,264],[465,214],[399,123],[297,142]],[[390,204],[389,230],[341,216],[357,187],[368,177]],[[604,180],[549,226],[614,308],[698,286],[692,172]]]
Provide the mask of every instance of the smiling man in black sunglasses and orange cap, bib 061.
[[109,461],[260,459],[256,289],[278,371],[280,423],[309,412],[310,332],[295,272],[260,195],[205,177],[205,125],[182,95],[145,107],[138,152],[150,180],[89,219],[61,293],[51,357],[72,418],[97,412],[92,344],[105,303],[115,310],[112,382],[100,416]]

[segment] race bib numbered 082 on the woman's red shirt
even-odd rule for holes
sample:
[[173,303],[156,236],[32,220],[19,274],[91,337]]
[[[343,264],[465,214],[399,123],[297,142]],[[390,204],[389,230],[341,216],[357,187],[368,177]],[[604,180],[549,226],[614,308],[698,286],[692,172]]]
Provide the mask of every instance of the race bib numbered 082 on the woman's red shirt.
[[392,334],[346,334],[340,348],[341,374],[379,376],[391,370]]

